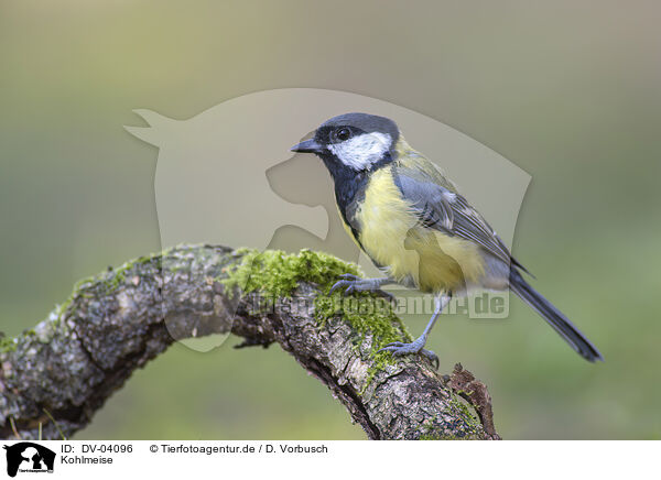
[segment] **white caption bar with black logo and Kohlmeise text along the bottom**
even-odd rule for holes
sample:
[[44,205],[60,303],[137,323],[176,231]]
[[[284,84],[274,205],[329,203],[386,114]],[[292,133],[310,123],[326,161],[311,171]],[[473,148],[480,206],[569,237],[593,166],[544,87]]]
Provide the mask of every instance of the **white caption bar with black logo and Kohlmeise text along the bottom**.
[[[659,441],[0,441],[1,478],[648,478]],[[48,473],[42,477],[39,473]],[[195,477],[185,477],[195,476]],[[657,478],[657,477],[654,477]]]

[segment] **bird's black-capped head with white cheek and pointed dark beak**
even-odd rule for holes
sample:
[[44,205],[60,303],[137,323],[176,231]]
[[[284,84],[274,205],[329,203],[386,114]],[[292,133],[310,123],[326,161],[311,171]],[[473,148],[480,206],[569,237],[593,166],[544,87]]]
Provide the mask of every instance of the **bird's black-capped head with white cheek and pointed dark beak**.
[[399,138],[397,124],[386,117],[345,113],[324,122],[312,139],[291,150],[318,155],[332,172],[365,172],[391,162]]

